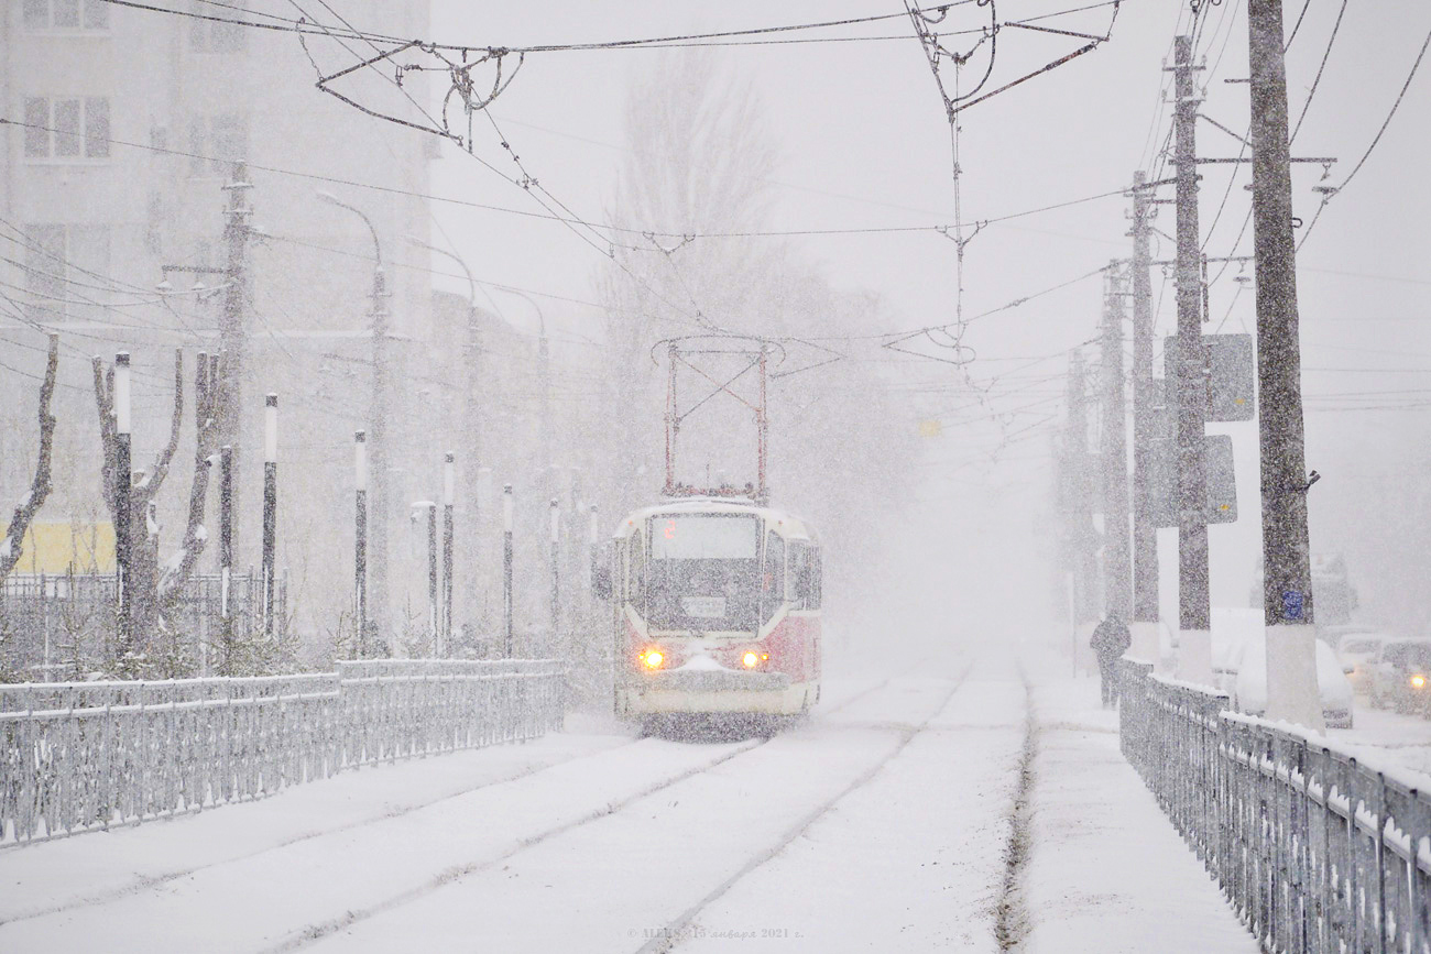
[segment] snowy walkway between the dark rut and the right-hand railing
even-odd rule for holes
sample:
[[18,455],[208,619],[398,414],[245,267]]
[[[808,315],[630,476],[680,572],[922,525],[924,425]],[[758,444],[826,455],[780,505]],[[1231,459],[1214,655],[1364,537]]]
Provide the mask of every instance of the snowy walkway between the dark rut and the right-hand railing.
[[1030,672],[1037,751],[1025,954],[1256,954],[1216,882],[1118,749],[1096,678]]

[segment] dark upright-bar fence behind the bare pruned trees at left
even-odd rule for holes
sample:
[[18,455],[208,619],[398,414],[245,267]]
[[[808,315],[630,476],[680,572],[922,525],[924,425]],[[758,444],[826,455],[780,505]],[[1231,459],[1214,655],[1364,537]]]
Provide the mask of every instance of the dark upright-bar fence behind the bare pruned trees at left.
[[[229,578],[229,618],[233,632],[258,632],[263,625],[263,581],[252,569]],[[288,575],[278,581],[275,616],[288,619]],[[0,669],[24,678],[56,674],[82,678],[107,658],[114,639],[116,584],[113,574],[10,574],[0,581]],[[176,622],[200,671],[215,658],[223,632],[223,582],[219,574],[196,574],[179,598]]]

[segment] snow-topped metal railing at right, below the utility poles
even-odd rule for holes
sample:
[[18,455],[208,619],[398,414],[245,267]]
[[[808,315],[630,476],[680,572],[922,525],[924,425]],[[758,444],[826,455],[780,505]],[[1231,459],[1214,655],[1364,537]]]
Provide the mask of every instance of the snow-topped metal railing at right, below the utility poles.
[[1274,953],[1431,951],[1431,778],[1122,662],[1123,755]]

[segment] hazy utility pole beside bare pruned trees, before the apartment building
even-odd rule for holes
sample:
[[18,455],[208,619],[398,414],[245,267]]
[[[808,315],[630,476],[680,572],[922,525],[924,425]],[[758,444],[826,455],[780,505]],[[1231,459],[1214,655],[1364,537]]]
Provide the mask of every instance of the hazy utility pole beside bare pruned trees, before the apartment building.
[[[236,478],[243,448],[243,375],[248,355],[248,319],[246,305],[249,300],[249,230],[253,209],[248,205],[248,192],[253,187],[248,182],[248,166],[242,162],[233,163],[233,179],[223,186],[229,193],[229,206],[223,210],[223,246],[225,246],[225,283],[223,322],[219,326],[219,343],[223,353],[222,376],[219,379],[219,443],[232,448],[233,471],[230,472],[229,495],[239,491],[232,483]],[[238,545],[239,528],[238,512],[229,515],[229,544]],[[232,552],[232,551],[230,551]]]

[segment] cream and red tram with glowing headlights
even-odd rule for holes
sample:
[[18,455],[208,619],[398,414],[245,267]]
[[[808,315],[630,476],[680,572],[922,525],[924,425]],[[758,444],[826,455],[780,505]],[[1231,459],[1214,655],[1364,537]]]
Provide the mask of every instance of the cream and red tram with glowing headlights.
[[820,546],[790,513],[695,498],[612,539],[615,712],[798,717],[820,699]]

